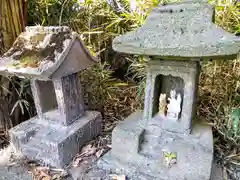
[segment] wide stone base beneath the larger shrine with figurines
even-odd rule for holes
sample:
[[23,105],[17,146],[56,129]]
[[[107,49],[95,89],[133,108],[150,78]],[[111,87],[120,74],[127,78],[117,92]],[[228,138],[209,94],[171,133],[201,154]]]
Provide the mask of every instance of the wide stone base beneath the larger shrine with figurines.
[[[115,128],[112,150],[97,162],[97,168],[89,172],[89,179],[97,179],[99,174],[107,177],[115,173],[133,180],[210,179],[213,137],[209,126],[197,124],[191,134],[180,134],[162,129],[158,126],[158,118],[141,125],[143,121],[139,117],[141,112],[134,113]],[[133,146],[125,143],[127,135],[130,135]],[[167,166],[164,152],[176,153],[176,163]]]

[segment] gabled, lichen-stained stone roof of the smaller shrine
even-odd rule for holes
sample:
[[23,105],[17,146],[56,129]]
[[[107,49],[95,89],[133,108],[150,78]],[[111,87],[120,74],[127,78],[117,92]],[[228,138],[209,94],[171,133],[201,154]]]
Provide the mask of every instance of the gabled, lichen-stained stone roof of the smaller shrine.
[[[78,46],[72,48],[76,41]],[[75,53],[71,60],[67,59],[70,53]],[[65,70],[68,72],[63,75],[87,68],[89,64],[96,61],[85,48],[78,34],[68,27],[26,27],[26,31],[19,35],[13,46],[0,58],[0,72],[17,76],[50,78],[65,59],[72,61],[74,58],[77,59],[73,63],[75,67],[68,66]],[[82,60],[92,62],[81,63],[80,67],[79,63]],[[76,69],[77,61],[79,61],[78,69]]]

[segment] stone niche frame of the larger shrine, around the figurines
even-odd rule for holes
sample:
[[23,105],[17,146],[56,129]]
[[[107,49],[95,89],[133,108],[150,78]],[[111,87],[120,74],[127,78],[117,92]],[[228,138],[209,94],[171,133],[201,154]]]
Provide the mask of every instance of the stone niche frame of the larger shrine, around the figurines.
[[[173,132],[189,133],[191,121],[196,113],[196,95],[200,66],[196,61],[154,60],[148,63],[147,85],[145,90],[144,118],[146,124],[158,118],[162,128]],[[158,76],[164,78],[159,79]],[[174,80],[175,78],[175,80]],[[157,81],[159,80],[159,81]],[[178,82],[182,82],[178,84]],[[158,97],[160,93],[169,96],[170,90],[182,95],[182,110],[179,120],[158,116]]]

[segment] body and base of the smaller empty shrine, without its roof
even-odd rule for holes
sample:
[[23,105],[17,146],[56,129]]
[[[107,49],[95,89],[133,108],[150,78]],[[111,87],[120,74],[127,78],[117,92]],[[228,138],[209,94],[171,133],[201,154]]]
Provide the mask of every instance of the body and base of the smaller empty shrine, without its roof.
[[29,159],[63,168],[101,133],[101,114],[84,110],[77,73],[31,86],[38,116],[12,128],[11,141]]

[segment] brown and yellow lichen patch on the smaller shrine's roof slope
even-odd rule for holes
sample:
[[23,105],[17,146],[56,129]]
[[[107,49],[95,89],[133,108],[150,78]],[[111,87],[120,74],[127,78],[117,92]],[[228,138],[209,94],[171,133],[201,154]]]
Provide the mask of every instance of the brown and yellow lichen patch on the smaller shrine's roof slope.
[[22,33],[12,48],[4,55],[12,57],[15,67],[37,68],[42,61],[56,61],[56,53],[64,51],[64,41],[71,39],[70,32]]

